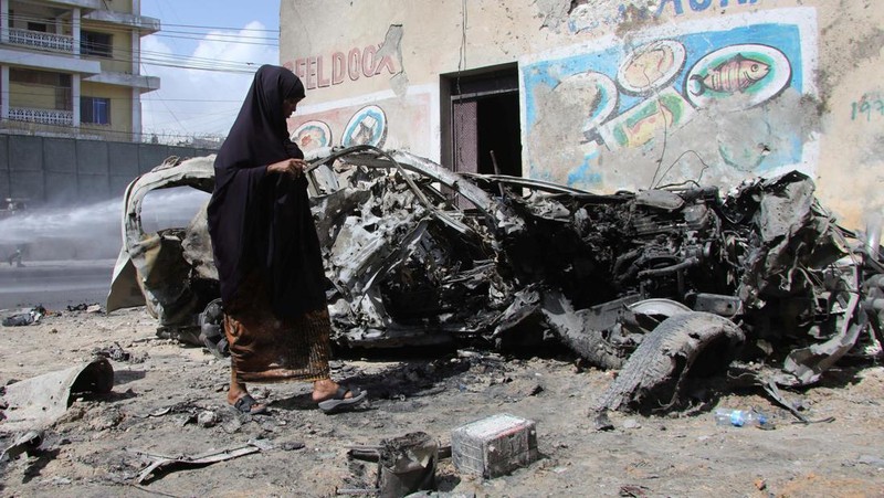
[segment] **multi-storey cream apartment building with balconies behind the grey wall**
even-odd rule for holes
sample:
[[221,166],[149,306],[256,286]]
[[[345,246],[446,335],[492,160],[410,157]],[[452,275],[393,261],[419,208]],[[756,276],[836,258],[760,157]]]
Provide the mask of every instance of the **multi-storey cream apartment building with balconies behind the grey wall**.
[[0,130],[140,141],[140,0],[0,0]]

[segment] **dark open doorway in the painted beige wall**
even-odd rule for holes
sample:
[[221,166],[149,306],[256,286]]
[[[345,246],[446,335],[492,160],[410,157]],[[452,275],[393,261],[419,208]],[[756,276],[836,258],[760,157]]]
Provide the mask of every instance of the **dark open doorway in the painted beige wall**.
[[454,170],[520,177],[516,67],[448,78]]

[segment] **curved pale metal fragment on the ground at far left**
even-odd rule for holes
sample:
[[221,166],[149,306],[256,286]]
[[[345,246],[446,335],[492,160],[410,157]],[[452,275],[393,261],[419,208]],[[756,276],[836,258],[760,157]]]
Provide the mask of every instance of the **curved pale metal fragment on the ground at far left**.
[[0,432],[46,427],[64,415],[75,395],[104,394],[113,386],[114,369],[105,358],[7,385]]

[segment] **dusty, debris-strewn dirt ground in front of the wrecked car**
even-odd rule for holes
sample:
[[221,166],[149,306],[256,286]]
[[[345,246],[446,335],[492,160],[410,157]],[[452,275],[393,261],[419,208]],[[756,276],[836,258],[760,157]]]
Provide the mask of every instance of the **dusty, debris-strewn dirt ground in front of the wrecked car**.
[[[118,343],[107,395],[77,399],[40,452],[0,469],[2,496],[335,496],[373,485],[377,464],[352,446],[423,431],[441,445],[469,422],[509,413],[536,422],[540,458],[484,480],[450,458],[436,469],[446,496],[884,496],[884,368],[853,365],[821,385],[787,392],[811,420],[800,425],[758,391],[725,392],[702,409],[661,416],[612,414],[598,432],[588,406],[613,372],[567,353],[509,358],[491,351],[336,360],[334,377],[367,388],[364,410],[326,415],[309,385],[253,386],[269,415],[238,415],[224,390],[229,363],[156,337],[144,308],[62,311],[38,325],[0,327],[0,385],[62,370]],[[716,426],[714,406],[756,406],[776,428]],[[213,412],[215,424],[197,423]],[[206,417],[208,415],[203,415]],[[2,423],[0,423],[0,430]],[[196,455],[260,441],[262,451],[136,485],[147,455]],[[3,447],[10,435],[0,437]],[[301,445],[303,443],[303,447]]]

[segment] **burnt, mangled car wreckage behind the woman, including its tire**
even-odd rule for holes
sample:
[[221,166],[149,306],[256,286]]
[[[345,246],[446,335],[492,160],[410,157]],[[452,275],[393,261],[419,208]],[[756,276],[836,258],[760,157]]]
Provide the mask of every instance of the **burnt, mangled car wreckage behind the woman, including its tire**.
[[[834,224],[801,173],[727,195],[691,182],[602,195],[370,146],[307,159],[338,347],[557,340],[621,369],[600,412],[652,394],[672,405],[688,373],[736,358],[779,367],[762,380],[772,393],[881,353],[877,241]],[[146,305],[160,333],[222,349],[204,208],[158,233],[140,218],[151,190],[211,192],[212,160],[128,187],[107,309]]]

